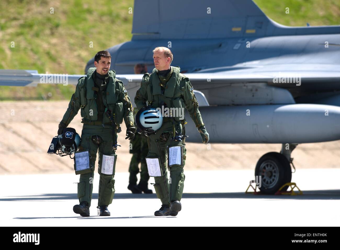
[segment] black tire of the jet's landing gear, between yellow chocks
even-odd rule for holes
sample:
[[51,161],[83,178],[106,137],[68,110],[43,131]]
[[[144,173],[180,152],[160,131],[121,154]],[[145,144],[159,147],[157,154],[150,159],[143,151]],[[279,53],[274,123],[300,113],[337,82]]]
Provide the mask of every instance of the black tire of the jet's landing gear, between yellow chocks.
[[[287,158],[277,152],[262,155],[255,167],[255,176],[261,176],[261,193],[272,195],[282,185],[292,180],[292,170]],[[282,191],[286,191],[284,187]]]

